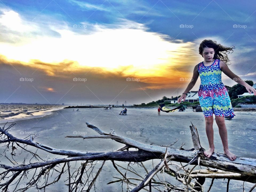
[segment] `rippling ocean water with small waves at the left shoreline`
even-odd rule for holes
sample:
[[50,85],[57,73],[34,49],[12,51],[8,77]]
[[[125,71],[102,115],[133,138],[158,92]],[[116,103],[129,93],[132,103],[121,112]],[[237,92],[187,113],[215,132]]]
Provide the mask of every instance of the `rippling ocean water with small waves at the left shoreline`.
[[0,122],[42,117],[52,111],[63,109],[63,105],[0,105]]

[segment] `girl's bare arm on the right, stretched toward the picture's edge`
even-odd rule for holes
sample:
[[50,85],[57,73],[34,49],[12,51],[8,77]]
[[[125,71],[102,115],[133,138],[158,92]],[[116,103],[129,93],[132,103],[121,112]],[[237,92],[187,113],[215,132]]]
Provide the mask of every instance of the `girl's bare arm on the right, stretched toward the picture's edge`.
[[246,90],[251,94],[253,93],[254,95],[256,95],[256,90],[250,86],[248,83],[246,83],[245,81],[243,81],[240,77],[238,77],[236,74],[234,74],[229,67],[227,66],[227,64],[224,61],[219,61],[219,67],[221,68],[221,70],[223,71],[223,73],[225,73],[230,79],[233,79],[235,82],[245,86]]

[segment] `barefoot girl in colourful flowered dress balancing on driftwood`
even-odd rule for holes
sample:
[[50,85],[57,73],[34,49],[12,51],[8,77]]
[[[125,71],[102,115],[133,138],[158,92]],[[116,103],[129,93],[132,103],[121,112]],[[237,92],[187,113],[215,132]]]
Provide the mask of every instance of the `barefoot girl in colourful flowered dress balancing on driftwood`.
[[224,153],[231,161],[236,159],[236,155],[229,150],[224,117],[234,115],[234,110],[231,105],[228,91],[221,81],[222,71],[235,82],[245,86],[250,94],[253,93],[256,95],[256,90],[235,75],[226,64],[230,61],[227,57],[227,53],[230,51],[233,52],[234,48],[234,46],[224,47],[221,44],[217,44],[216,41],[203,40],[199,46],[199,54],[202,55],[204,61],[194,67],[192,80],[178,99],[178,103],[180,103],[181,100],[185,101],[187,93],[194,87],[198,76],[200,76],[201,85],[199,86],[198,96],[205,116],[205,129],[209,142],[209,149],[204,151],[204,154],[209,158],[214,152],[214,114],[216,123],[219,127],[219,135],[223,144]]

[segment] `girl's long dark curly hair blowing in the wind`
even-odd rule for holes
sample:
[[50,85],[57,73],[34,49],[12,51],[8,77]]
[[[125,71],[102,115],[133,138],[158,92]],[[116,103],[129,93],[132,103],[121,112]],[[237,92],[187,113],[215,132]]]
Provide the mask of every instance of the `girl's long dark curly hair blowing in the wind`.
[[231,47],[224,47],[221,44],[217,44],[216,41],[212,41],[210,39],[203,40],[199,45],[199,54],[203,57],[203,49],[205,47],[213,48],[214,49],[214,56],[213,59],[220,59],[224,61],[225,63],[229,62],[229,58],[227,57],[227,53],[233,53],[233,49],[235,49],[235,46]]

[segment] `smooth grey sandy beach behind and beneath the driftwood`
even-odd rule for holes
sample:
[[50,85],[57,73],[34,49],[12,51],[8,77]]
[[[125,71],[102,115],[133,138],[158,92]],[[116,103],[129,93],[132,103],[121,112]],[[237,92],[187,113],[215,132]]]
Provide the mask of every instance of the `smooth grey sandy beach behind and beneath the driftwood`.
[[[161,115],[159,116],[157,114],[157,108],[128,108],[127,115],[118,115],[120,111],[121,108],[114,108],[111,110],[103,110],[102,108],[79,109],[79,111],[73,111],[73,109],[61,109],[53,111],[52,114],[44,117],[15,121],[16,125],[11,128],[10,133],[18,138],[25,138],[31,133],[36,134],[37,137],[35,137],[34,141],[57,149],[112,151],[124,146],[111,139],[83,140],[81,138],[65,138],[67,135],[97,135],[95,131],[86,126],[85,122],[89,122],[104,131],[110,132],[110,129],[112,128],[118,135],[129,137],[147,144],[170,145],[175,142],[177,138],[178,141],[172,147],[179,148],[182,143],[186,143],[183,148],[191,149],[193,148],[193,144],[189,125],[191,125],[190,122],[192,122],[197,126],[202,147],[208,149],[208,141],[205,133],[205,120],[202,112],[193,112],[192,109],[187,109],[184,112],[161,112]],[[256,158],[256,112],[236,111],[235,115],[236,116],[232,121],[226,120],[229,148],[231,152],[238,157]],[[3,125],[4,122],[0,124],[1,127]],[[213,127],[215,131],[215,152],[223,153],[221,139],[218,134],[218,127],[215,122]],[[31,147],[29,148],[33,149]],[[17,154],[20,154],[20,151],[21,149],[19,149]],[[33,151],[35,151],[35,149],[33,149]],[[38,154],[43,158],[60,157],[58,155],[48,154],[42,150],[38,150]],[[17,162],[23,162],[22,154],[17,155],[15,158]],[[1,161],[2,164],[8,162],[3,157],[1,157]],[[158,159],[154,160],[154,165],[159,161],[160,160]],[[78,164],[80,165],[80,162]],[[118,164],[127,166],[127,163],[125,162],[118,162]],[[77,165],[77,167],[79,165]],[[145,162],[145,165],[150,170],[152,168],[152,161]],[[99,163],[99,166],[101,166],[101,163]],[[135,165],[135,167],[137,167],[137,165]],[[139,168],[138,170],[141,171],[140,173],[142,176],[145,175],[145,170]],[[103,166],[102,173],[97,179],[96,191],[121,191],[121,185],[106,185],[106,183],[115,180],[115,178],[112,178],[113,176],[119,177],[119,174],[114,169],[111,162],[106,162]],[[161,177],[160,173],[159,177]],[[67,185],[64,185],[64,183],[66,184],[68,181],[64,182],[63,180],[66,180],[66,178],[62,176],[62,179],[60,179],[57,184],[47,187],[46,191],[67,191]],[[210,182],[211,179],[206,179],[206,182],[203,185],[205,187],[204,190],[208,190]],[[171,183],[175,185],[178,182],[174,178],[171,178]],[[226,190],[226,183],[227,180],[215,180],[211,191]],[[231,180],[229,186],[229,191],[243,190],[242,181]],[[251,183],[245,183],[245,191],[248,191],[252,186],[253,184]],[[31,191],[34,190],[31,189]]]

